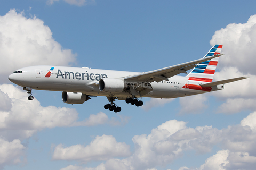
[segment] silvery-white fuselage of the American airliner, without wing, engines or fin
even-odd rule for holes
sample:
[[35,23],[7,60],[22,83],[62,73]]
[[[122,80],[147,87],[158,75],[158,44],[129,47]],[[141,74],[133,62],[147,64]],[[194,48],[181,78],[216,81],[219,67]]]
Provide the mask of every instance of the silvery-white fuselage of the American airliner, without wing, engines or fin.
[[[53,69],[52,69],[53,68]],[[141,74],[139,72],[89,69],[87,67],[65,66],[31,66],[19,69],[22,73],[13,73],[9,80],[22,87],[36,90],[82,92],[88,96],[114,96],[118,98],[131,97],[126,90],[118,93],[102,92],[98,82],[102,78],[122,79],[129,75]],[[188,81],[188,77],[175,75],[169,81],[151,82],[154,90],[142,97],[176,98],[214,91],[217,88],[200,90],[189,86],[198,86],[197,81]],[[127,83],[140,83],[138,81]],[[140,97],[140,96],[137,96]]]

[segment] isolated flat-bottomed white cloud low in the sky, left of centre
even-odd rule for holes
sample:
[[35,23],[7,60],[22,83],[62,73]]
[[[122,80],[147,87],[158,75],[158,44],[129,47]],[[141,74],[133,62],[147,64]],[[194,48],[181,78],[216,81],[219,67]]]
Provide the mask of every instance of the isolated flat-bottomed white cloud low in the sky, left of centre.
[[117,142],[112,135],[97,137],[87,146],[74,145],[63,147],[62,144],[54,148],[53,160],[79,160],[89,162],[92,160],[108,160],[111,157],[130,156],[130,146]]

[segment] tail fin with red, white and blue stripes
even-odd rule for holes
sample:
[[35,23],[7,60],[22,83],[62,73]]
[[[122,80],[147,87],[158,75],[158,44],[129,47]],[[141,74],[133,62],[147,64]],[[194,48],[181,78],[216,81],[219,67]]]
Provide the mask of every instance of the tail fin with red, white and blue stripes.
[[[222,45],[214,45],[210,51],[204,56],[209,57],[215,54],[220,54]],[[188,75],[188,80],[212,82],[213,75],[218,64],[219,57],[212,58],[206,62],[199,63]]]

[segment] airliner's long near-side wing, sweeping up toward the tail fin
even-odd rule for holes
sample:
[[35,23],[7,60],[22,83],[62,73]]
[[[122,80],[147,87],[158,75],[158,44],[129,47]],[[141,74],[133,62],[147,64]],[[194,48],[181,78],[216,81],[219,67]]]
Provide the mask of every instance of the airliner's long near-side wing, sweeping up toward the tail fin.
[[221,55],[223,54],[204,57],[191,62],[182,63],[182,64],[170,66],[170,67],[165,67],[163,69],[143,72],[135,75],[129,75],[127,77],[124,77],[124,80],[128,80],[128,81],[137,80],[137,81],[143,81],[143,82],[153,82],[153,81],[159,82],[163,80],[169,81],[168,78],[173,77],[174,75],[177,75],[180,73],[187,74],[187,71],[196,67],[196,64],[205,62],[207,60],[211,60],[212,58],[219,57]]

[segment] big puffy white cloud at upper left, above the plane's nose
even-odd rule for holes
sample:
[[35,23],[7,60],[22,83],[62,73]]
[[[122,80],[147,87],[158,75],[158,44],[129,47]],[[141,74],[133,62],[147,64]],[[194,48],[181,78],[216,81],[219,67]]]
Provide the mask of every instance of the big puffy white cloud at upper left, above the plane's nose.
[[64,49],[54,40],[52,32],[36,16],[27,18],[25,12],[14,9],[0,16],[0,80],[14,70],[31,65],[71,65],[76,54]]

